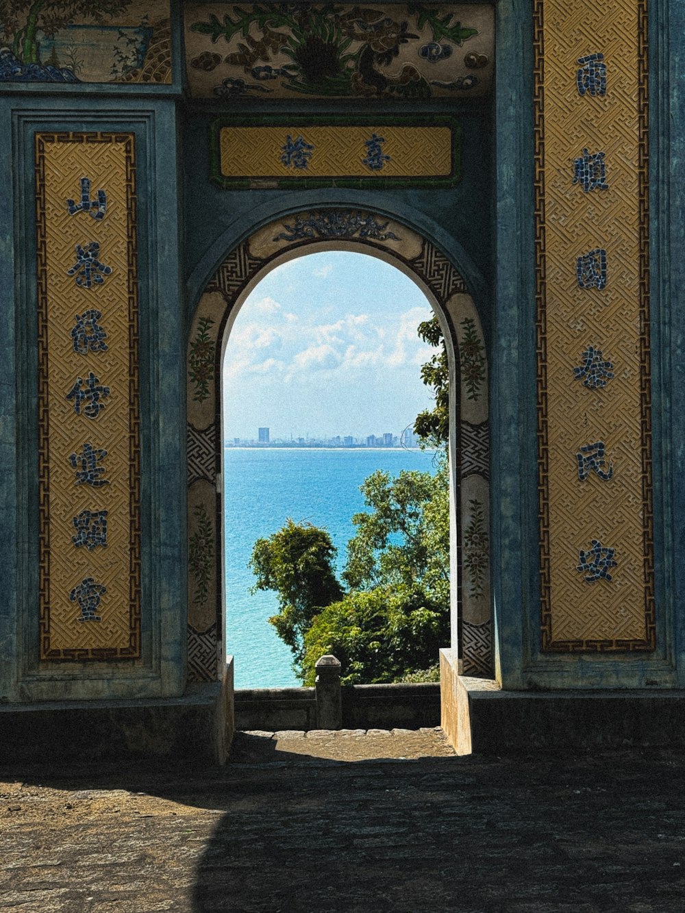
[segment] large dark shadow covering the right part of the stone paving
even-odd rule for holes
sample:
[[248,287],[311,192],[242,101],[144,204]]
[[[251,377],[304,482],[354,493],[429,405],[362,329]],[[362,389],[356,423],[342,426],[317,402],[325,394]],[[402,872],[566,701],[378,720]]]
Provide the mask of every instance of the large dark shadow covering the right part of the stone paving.
[[682,911],[681,761],[246,770],[200,859],[194,909]]

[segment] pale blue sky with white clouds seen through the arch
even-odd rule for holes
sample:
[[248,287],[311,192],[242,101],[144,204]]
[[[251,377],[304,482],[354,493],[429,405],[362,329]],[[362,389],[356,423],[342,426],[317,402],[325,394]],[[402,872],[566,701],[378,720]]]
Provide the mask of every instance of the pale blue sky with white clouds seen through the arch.
[[324,252],[290,260],[253,289],[224,359],[224,428],[232,440],[401,435],[432,406],[416,335],[433,311],[377,257]]

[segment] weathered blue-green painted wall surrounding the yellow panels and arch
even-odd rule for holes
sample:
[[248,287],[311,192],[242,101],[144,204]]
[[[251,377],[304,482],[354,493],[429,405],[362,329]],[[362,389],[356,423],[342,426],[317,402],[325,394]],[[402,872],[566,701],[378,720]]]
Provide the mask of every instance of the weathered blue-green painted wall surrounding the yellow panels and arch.
[[[174,86],[153,92],[92,86],[59,92],[34,86],[8,94],[3,87],[0,198],[8,202],[0,207],[0,524],[5,535],[0,700],[183,688],[188,322],[206,279],[232,247],[258,226],[318,205],[354,205],[406,222],[452,257],[478,303],[489,347],[492,582],[497,668],[505,687],[685,686],[685,0],[655,0],[649,15],[655,656],[540,656],[538,650],[532,4],[500,0],[496,99],[478,111],[458,109],[464,173],[451,190],[220,190],[208,179],[206,142],[217,110],[174,94],[180,89],[178,72]],[[422,106],[422,113],[426,110]],[[317,108],[321,113],[325,110]],[[36,356],[31,339],[36,289],[29,142],[35,125],[45,130],[118,125],[139,136],[147,615],[144,660],[137,670],[72,666],[56,673],[37,664]],[[51,681],[55,676],[58,686]],[[108,685],[111,677],[120,679],[116,687]]]

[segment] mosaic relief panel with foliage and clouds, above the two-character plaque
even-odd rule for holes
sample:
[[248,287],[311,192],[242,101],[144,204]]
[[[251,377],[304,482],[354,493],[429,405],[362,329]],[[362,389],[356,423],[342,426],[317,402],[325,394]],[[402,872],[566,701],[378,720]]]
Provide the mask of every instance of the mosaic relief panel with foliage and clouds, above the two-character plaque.
[[494,6],[184,4],[193,95],[422,101],[487,94]]

